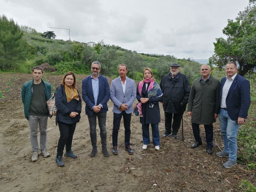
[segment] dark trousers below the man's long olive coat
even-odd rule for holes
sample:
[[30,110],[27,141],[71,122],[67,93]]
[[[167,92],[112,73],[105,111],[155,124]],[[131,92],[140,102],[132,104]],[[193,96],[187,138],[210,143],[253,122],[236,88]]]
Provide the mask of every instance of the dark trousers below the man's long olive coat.
[[[204,125],[205,126],[205,139],[207,143],[207,147],[213,147],[213,124]],[[194,138],[196,141],[202,142],[202,138],[200,137],[200,129],[199,124],[192,123],[192,129]]]

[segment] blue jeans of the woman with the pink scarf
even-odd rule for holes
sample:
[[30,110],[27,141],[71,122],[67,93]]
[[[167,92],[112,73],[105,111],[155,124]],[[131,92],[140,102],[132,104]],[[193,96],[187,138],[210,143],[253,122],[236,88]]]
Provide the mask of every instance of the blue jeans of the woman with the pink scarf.
[[[158,123],[151,124],[152,128],[152,143],[154,146],[160,144],[160,136],[158,131]],[[142,124],[142,138],[143,144],[148,145],[150,143],[149,139],[149,124]]]

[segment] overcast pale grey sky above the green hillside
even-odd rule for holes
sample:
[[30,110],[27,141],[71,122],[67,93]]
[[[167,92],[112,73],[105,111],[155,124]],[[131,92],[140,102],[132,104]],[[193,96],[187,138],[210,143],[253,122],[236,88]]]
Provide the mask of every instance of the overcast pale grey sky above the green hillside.
[[57,39],[121,46],[138,53],[208,59],[227,19],[249,0],[0,0],[0,14]]

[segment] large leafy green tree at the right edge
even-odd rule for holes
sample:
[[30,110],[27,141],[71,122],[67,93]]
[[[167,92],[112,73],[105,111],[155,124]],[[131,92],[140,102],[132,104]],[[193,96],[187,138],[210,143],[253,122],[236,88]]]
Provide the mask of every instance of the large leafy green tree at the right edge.
[[216,38],[214,54],[209,58],[210,64],[222,69],[228,61],[238,64],[238,74],[256,70],[256,1],[250,0],[249,6],[238,13],[236,21],[228,20],[222,30],[227,39]]

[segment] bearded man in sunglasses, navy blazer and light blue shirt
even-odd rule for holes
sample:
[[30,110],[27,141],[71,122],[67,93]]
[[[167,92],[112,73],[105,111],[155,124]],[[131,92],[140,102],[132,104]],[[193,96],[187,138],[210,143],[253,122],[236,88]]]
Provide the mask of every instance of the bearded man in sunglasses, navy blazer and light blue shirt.
[[107,101],[110,98],[110,90],[106,77],[99,74],[101,64],[94,61],[91,65],[92,74],[86,77],[82,82],[82,97],[86,104],[85,114],[88,116],[90,124],[90,138],[92,143],[92,152],[90,157],[95,157],[97,153],[97,133],[96,118],[98,117],[100,138],[102,144],[102,153],[105,157],[109,156],[107,152]]

